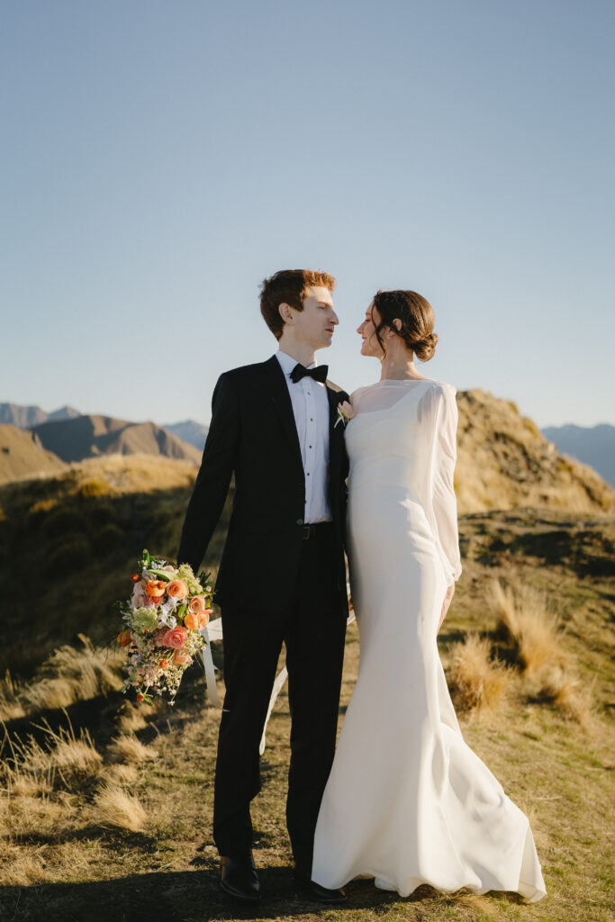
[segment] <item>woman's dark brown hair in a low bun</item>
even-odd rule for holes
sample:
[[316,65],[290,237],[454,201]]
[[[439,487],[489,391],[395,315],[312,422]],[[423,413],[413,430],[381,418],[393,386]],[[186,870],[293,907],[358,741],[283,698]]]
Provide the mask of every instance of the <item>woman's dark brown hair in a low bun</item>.
[[[375,335],[386,355],[386,345],[380,336],[388,327],[398,337],[401,337],[408,349],[412,349],[420,361],[430,361],[438,334],[433,333],[433,309],[427,299],[416,291],[379,291],[373,298],[373,307],[380,314],[380,323],[376,326]],[[401,329],[397,329],[394,320],[401,321]],[[375,321],[374,321],[375,323]]]

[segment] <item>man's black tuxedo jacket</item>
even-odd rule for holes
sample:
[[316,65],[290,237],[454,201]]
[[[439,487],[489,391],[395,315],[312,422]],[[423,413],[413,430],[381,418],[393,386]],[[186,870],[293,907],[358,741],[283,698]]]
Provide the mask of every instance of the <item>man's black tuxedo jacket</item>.
[[[337,405],[345,391],[326,382],[329,400],[328,498],[333,515],[335,586],[348,616],[344,538],[348,456]],[[278,359],[220,375],[203,460],[183,522],[177,559],[197,571],[235,475],[231,522],[216,600],[261,614],[290,602],[302,551],[305,478],[289,388]],[[314,604],[318,600],[314,599]]]

